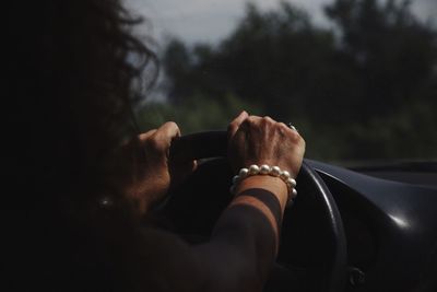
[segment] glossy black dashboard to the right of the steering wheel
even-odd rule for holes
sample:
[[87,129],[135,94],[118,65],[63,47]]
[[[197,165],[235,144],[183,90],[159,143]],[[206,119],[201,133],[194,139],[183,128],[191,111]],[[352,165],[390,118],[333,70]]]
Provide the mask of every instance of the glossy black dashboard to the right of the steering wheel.
[[310,164],[342,217],[349,291],[413,291],[437,276],[426,276],[437,264],[436,187]]

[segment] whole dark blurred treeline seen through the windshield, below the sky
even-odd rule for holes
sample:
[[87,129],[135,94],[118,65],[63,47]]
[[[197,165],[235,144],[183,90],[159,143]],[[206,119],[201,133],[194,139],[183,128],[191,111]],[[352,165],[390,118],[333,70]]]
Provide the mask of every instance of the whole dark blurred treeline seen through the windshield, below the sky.
[[197,112],[199,124],[209,125],[212,115],[224,121],[224,96],[239,96],[293,120],[316,159],[437,157],[436,30],[404,0],[334,0],[326,13],[335,28],[287,2],[267,12],[248,4],[215,47],[172,40],[166,106],[191,115],[200,105],[211,115]]

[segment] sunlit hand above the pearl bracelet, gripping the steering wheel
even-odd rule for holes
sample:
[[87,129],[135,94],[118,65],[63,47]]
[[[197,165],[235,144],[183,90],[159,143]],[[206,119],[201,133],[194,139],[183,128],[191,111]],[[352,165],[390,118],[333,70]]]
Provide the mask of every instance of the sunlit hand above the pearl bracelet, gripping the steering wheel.
[[285,124],[243,112],[231,122],[228,133],[229,157],[236,172],[251,164],[268,164],[277,165],[293,177],[297,176],[305,153],[305,141]]

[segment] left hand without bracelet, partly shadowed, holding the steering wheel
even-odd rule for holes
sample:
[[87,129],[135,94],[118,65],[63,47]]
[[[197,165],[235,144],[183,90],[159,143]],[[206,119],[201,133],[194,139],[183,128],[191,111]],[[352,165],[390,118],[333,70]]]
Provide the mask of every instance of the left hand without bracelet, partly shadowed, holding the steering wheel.
[[151,205],[163,199],[169,188],[179,184],[196,168],[196,161],[169,161],[172,141],[178,137],[179,128],[173,121],[138,137],[144,154],[135,162],[128,196],[138,205],[140,213],[145,213]]

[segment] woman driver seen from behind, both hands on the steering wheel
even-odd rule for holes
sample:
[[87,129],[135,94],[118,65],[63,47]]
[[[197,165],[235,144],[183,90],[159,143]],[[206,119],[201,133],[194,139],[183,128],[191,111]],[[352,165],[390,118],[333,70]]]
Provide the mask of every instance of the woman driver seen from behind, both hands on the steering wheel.
[[[286,200],[277,178],[245,179],[202,245],[142,224],[196,162],[169,161],[175,122],[137,137],[157,58],[123,3],[3,3],[3,291],[260,291]],[[228,132],[235,172],[297,174],[305,143],[285,125],[241,113]]]

